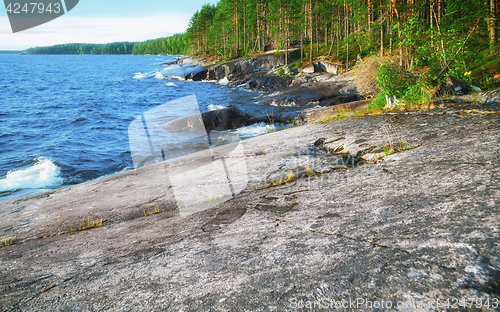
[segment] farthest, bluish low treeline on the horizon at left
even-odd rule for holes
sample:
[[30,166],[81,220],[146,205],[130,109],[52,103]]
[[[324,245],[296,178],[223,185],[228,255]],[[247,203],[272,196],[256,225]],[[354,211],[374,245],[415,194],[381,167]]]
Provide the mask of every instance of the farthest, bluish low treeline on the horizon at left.
[[67,43],[25,50],[29,54],[132,54],[134,42]]

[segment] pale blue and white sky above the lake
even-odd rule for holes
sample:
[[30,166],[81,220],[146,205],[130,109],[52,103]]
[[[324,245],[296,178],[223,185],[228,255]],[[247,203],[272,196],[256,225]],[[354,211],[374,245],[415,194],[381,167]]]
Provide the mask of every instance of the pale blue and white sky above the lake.
[[80,0],[63,16],[15,34],[2,6],[0,50],[166,37],[184,32],[191,16],[207,3],[217,0]]

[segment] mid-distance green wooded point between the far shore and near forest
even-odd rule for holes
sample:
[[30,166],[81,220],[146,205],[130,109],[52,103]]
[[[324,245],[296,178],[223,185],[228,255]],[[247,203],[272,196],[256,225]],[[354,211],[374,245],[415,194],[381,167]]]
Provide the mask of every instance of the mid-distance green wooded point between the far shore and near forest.
[[166,38],[158,38],[137,42],[132,49],[133,54],[191,54],[189,40],[185,34],[175,34]]

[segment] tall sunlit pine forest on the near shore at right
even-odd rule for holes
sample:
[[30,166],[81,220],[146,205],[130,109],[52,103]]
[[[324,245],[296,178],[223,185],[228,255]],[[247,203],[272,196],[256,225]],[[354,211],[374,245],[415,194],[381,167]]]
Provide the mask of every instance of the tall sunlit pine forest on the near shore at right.
[[401,67],[463,72],[496,51],[498,10],[498,0],[220,0],[196,12],[186,34],[193,53],[222,58],[293,45],[310,61],[390,53]]

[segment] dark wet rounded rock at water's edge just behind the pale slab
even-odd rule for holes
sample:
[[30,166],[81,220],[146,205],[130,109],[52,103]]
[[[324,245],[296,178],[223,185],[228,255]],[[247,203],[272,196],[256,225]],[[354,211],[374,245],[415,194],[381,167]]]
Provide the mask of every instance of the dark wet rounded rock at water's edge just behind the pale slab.
[[208,131],[223,131],[243,127],[248,124],[248,120],[252,117],[253,115],[244,113],[235,107],[228,107],[202,114],[205,129]]

